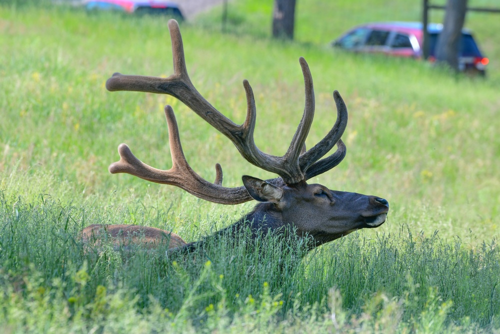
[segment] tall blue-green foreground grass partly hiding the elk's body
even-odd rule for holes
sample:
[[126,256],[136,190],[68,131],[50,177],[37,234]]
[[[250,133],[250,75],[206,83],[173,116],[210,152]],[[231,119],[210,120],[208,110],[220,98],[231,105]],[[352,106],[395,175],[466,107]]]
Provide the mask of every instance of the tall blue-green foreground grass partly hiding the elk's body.
[[147,331],[232,332],[242,320],[265,331],[294,331],[304,321],[319,331],[338,323],[367,331],[388,324],[402,331],[498,326],[494,243],[470,251],[437,232],[412,236],[401,229],[373,239],[354,233],[300,261],[300,248],[290,256],[276,235],[247,247],[253,242],[247,233],[222,236],[188,257],[165,258],[165,249],[125,257],[105,245],[84,251],[78,236],[84,225],[119,219],[121,210],[43,197],[28,204],[4,193],[0,200],[0,321],[13,332],[43,326],[114,332],[139,324]]

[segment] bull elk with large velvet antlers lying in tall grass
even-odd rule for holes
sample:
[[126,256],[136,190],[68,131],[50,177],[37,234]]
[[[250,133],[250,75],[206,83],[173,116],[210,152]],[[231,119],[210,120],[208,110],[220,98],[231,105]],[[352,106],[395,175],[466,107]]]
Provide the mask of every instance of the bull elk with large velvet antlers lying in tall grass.
[[[314,91],[312,77],[303,58],[299,60],[305,85],[303,116],[286,153],[281,157],[272,156],[260,151],[253,140],[255,101],[248,81],[243,81],[247,101],[246,120],[242,125],[236,125],[194,88],[187,74],[177,22],[170,20],[168,29],[174,69],[170,77],[165,79],[115,73],[107,80],[106,88],[109,91],[161,93],[177,98],[229,138],[246,161],[279,177],[263,181],[242,176],[243,186],[227,188],[222,186],[222,169],[216,164],[215,181],[212,183],[204,180],[191,169],[184,157],[177,123],[170,106],[165,107],[165,116],[172,167],[169,170],[150,167],[138,160],[127,145],[120,144],[120,160],[109,166],[110,173],[128,173],[147,181],[174,185],[214,203],[239,204],[252,199],[260,202],[225,230],[233,233],[233,236],[243,227],[252,232],[292,227],[299,237],[308,235],[312,239],[312,248],[360,228],[380,226],[385,221],[389,206],[383,198],[329,190],[321,184],[306,183],[308,179],[335,167],[344,158],[346,149],[340,137],[347,124],[347,109],[338,92],[334,91],[336,122],[314,147],[305,149],[304,142],[314,115]],[[336,151],[320,160],[335,145]],[[82,238],[89,242],[96,240],[95,237],[103,232],[115,246],[127,240],[151,248],[166,240],[169,242],[168,248],[188,251],[202,242],[187,244],[175,233],[137,225],[91,225],[83,229]]]

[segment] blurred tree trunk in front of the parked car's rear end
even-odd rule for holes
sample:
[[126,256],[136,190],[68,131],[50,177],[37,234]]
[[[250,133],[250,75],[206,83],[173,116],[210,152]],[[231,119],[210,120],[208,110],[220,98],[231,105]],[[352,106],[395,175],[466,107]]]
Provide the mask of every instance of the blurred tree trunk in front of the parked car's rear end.
[[437,64],[447,64],[455,71],[458,71],[458,46],[466,12],[467,0],[447,0],[443,28],[436,44]]

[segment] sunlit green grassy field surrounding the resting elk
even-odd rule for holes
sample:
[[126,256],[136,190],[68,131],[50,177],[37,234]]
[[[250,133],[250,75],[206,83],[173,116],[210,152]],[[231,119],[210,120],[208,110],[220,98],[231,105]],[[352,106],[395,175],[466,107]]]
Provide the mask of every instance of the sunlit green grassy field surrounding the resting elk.
[[[281,258],[275,236],[257,250],[222,240],[192,258],[106,249],[84,253],[78,231],[133,223],[193,241],[253,203],[206,203],[173,187],[110,175],[116,147],[171,165],[162,113],[172,105],[193,169],[224,185],[274,177],[168,96],[109,93],[113,72],[168,76],[161,18],[0,5],[0,325],[7,332],[472,332],[500,328],[500,41],[493,15],[473,14],[490,58],[485,80],[423,62],[346,54],[326,44],[365,21],[418,20],[418,4],[298,2],[297,42],[268,39],[270,2],[229,5],[181,25],[191,80],[236,123],[243,79],[257,104],[255,141],[282,155],[303,109],[298,57],[314,79],[311,147],[335,120],[333,90],[349,109],[347,156],[313,181],[386,198],[388,221]],[[418,2],[419,3],[419,2]],[[474,6],[494,2],[470,1]],[[389,13],[389,14],[387,14]],[[433,21],[439,21],[433,14]],[[326,24],[323,24],[326,23]],[[274,238],[274,239],[273,239]],[[268,240],[270,239],[270,240]],[[201,259],[201,260],[200,260]],[[284,264],[283,264],[284,262]],[[286,270],[280,271],[284,267]]]

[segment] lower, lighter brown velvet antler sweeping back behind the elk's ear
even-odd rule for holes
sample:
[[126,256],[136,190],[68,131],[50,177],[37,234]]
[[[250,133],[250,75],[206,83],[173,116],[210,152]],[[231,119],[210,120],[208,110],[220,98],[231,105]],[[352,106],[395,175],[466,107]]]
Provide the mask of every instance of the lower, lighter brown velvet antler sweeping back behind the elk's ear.
[[120,144],[118,146],[120,160],[109,166],[110,173],[128,173],[147,181],[174,185],[196,197],[214,203],[239,204],[251,200],[244,187],[226,188],[221,186],[222,168],[219,164],[215,165],[215,183],[210,183],[196,174],[184,157],[177,122],[170,106],[165,107],[165,116],[169,130],[168,140],[172,168],[160,170],[148,166],[137,159],[127,145]]

